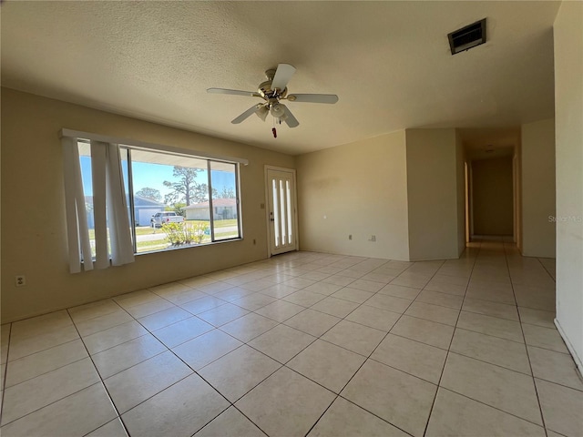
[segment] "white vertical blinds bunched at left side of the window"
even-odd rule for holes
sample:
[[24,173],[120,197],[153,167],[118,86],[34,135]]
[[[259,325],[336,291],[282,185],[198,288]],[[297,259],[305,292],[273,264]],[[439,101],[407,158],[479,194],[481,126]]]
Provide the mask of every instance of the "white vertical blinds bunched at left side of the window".
[[[133,262],[134,250],[118,145],[91,141],[96,248],[94,262],[87,226],[86,193],[81,178],[77,137],[62,137],[62,144],[70,272],[78,273],[94,268],[106,269],[110,265],[120,266]],[[107,247],[107,229],[110,248]]]

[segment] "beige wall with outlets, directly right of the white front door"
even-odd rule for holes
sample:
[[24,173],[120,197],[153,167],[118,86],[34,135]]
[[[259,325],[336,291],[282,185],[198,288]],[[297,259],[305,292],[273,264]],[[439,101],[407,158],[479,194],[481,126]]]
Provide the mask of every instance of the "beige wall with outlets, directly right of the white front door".
[[404,131],[301,155],[297,169],[302,250],[409,259]]

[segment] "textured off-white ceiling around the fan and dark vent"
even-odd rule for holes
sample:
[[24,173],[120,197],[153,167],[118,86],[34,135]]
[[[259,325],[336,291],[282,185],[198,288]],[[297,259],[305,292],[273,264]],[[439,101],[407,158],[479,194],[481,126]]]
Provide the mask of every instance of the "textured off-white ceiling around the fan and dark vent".
[[[552,117],[557,2],[5,2],[2,85],[299,154],[409,127],[491,128]],[[488,42],[447,34],[487,17]],[[230,120],[264,70],[297,68],[300,126]],[[72,127],[74,128],[74,127]],[[104,133],[107,134],[107,133]]]

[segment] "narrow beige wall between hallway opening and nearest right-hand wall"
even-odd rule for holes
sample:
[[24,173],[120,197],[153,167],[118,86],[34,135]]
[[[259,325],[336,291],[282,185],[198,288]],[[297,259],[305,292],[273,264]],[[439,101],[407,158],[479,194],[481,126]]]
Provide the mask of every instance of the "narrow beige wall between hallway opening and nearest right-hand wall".
[[522,254],[555,258],[555,119],[522,125]]

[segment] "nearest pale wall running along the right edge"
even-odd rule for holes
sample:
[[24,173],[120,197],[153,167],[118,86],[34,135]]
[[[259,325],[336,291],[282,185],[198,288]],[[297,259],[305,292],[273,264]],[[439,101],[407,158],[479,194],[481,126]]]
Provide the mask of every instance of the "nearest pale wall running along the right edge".
[[554,31],[557,328],[583,373],[583,3],[563,2]]

